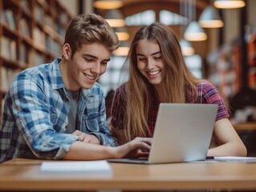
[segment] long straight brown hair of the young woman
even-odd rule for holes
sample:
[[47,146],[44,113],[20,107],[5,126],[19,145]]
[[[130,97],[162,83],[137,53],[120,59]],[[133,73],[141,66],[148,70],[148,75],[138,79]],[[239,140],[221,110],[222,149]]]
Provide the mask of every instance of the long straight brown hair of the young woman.
[[181,46],[169,26],[156,22],[143,26],[136,32],[125,64],[129,68],[126,84],[127,103],[124,114],[124,133],[128,141],[136,137],[148,137],[148,108],[150,93],[153,87],[137,67],[136,46],[142,39],[156,42],[160,46],[165,63],[165,102],[186,102],[187,92],[197,93],[197,83],[201,80],[194,77],[185,66]]

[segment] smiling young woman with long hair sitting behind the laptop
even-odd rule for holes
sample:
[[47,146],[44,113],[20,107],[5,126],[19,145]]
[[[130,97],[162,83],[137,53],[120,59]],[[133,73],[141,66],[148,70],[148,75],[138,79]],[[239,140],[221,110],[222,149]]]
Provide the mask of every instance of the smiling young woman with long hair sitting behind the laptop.
[[112,106],[113,135],[120,144],[152,137],[161,102],[217,103],[213,137],[217,146],[208,156],[246,156],[246,147],[230,123],[230,115],[214,86],[193,76],[185,66],[176,35],[153,23],[137,31],[126,60],[128,82],[118,87]]

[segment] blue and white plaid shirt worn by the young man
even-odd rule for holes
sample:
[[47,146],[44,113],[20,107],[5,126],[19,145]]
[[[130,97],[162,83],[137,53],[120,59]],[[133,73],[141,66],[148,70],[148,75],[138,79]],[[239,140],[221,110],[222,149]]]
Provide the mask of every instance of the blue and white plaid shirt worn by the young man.
[[[23,70],[6,93],[0,129],[0,162],[10,158],[62,158],[78,136],[65,134],[69,104],[54,62]],[[105,146],[117,146],[106,122],[104,94],[100,84],[81,91],[77,127],[95,134]]]

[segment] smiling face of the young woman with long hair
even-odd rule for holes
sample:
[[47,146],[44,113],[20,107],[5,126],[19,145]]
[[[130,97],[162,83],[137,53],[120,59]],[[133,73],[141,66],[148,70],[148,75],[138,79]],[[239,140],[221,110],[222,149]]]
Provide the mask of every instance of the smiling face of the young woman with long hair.
[[165,64],[158,44],[147,39],[140,40],[136,46],[136,59],[140,73],[148,82],[153,86],[161,85],[165,78]]

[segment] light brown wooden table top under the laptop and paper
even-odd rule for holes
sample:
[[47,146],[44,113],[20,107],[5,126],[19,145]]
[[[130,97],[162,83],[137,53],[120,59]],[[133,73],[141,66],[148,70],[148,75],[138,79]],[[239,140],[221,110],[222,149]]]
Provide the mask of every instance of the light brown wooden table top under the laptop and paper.
[[49,173],[42,161],[0,165],[0,190],[256,190],[256,163],[190,162],[161,165],[110,163],[113,174]]

